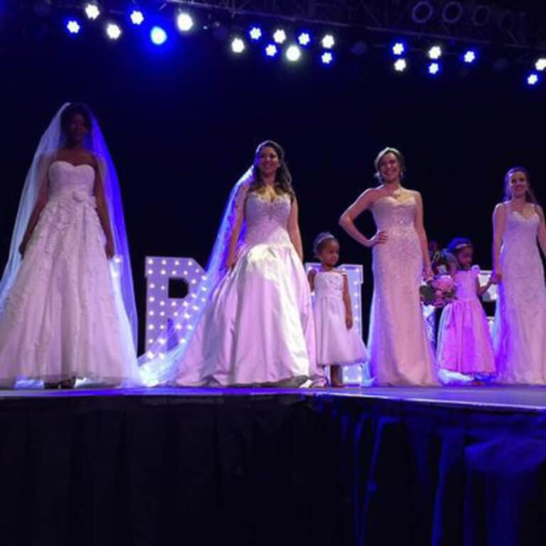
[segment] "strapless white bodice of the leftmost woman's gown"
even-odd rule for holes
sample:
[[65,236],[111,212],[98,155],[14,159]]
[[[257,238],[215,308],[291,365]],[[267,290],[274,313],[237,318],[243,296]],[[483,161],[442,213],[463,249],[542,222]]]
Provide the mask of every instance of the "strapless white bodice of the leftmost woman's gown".
[[55,160],[49,168],[49,199],[94,204],[95,169]]

